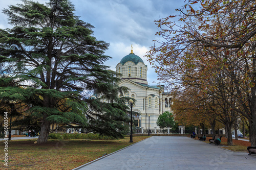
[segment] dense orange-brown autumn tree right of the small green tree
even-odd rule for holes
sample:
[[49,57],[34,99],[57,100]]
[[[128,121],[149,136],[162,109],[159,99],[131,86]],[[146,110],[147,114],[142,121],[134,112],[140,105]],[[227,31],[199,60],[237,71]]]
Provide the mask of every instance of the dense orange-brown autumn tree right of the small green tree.
[[205,95],[199,89],[187,86],[182,89],[174,89],[172,96],[172,110],[179,124],[198,126],[199,129],[203,129],[203,133],[205,133],[206,128],[211,128],[212,136],[215,135],[216,127],[223,127],[217,122],[217,108],[209,95]]

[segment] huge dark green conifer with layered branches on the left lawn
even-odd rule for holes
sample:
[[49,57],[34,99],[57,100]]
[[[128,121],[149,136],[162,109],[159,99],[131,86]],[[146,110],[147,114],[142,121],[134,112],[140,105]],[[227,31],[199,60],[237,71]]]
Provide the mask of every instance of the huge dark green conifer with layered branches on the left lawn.
[[[24,0],[3,10],[13,28],[0,29],[0,70],[12,77],[0,83],[19,85],[1,87],[0,100],[28,104],[27,114],[41,123],[38,143],[47,142],[52,123],[75,122],[116,138],[126,133],[127,106],[117,97],[124,88],[103,65],[111,58],[104,55],[109,43],[93,37],[93,26],[74,11],[67,0]],[[91,99],[93,93],[101,100]]]

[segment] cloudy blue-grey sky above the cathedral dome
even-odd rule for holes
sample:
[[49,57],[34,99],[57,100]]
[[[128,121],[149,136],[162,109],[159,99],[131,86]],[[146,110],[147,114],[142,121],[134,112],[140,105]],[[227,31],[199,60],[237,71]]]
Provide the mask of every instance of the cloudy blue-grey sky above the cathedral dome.
[[[35,0],[36,1],[36,0]],[[110,43],[109,50],[105,55],[112,59],[105,65],[115,70],[120,60],[131,52],[140,56],[147,64],[147,81],[155,85],[157,75],[155,70],[147,62],[145,54],[153,45],[158,31],[154,20],[169,15],[179,15],[175,9],[182,8],[185,0],[71,0],[75,5],[76,15],[80,19],[91,23],[95,28],[94,36],[97,40]],[[46,0],[37,0],[44,4]],[[10,28],[6,15],[2,13],[3,8],[8,5],[22,3],[20,0],[1,0],[0,28]],[[187,0],[186,0],[187,3]]]

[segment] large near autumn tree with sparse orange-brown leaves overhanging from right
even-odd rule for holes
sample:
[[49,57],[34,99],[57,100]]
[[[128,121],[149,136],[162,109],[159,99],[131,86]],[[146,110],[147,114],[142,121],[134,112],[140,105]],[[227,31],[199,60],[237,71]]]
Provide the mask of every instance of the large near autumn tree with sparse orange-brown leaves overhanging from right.
[[[200,5],[199,10],[194,10],[194,4]],[[230,80],[229,87],[233,86],[231,91],[225,91],[225,103],[236,111],[234,114],[249,120],[251,145],[256,145],[255,1],[189,1],[178,11],[179,21],[174,22],[176,16],[172,15],[156,21],[160,29],[157,35],[164,40],[155,41],[148,53],[150,62],[158,63],[155,67],[162,80],[174,79],[178,83],[185,80],[180,78],[187,74],[188,69],[183,70],[184,66],[187,68],[186,61],[193,60],[189,66],[197,66],[198,72],[205,70],[208,62],[210,66],[216,63]],[[204,64],[198,69],[200,63]],[[202,80],[198,78],[194,83]],[[212,81],[205,90],[208,93],[209,88],[217,86]]]

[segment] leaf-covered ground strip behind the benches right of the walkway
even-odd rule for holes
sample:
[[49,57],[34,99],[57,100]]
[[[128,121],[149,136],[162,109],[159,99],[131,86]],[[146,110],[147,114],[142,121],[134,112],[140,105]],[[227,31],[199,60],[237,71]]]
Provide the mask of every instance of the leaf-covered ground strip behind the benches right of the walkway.
[[[209,143],[209,139],[212,139],[212,137],[206,137],[205,142]],[[196,140],[198,140],[198,137],[196,137]],[[225,148],[230,151],[247,152],[247,147],[249,147],[251,145],[251,143],[249,141],[233,139],[233,145],[227,145],[227,138],[222,137],[221,145],[222,145],[222,148]]]

